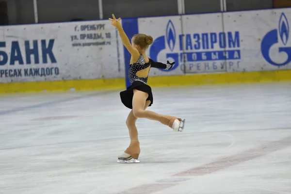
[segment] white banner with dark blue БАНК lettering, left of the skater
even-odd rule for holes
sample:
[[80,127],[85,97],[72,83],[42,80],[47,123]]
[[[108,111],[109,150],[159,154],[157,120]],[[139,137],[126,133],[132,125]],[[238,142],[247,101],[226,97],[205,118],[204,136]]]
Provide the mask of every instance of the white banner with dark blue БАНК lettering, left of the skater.
[[0,82],[122,78],[118,41],[107,20],[1,27]]

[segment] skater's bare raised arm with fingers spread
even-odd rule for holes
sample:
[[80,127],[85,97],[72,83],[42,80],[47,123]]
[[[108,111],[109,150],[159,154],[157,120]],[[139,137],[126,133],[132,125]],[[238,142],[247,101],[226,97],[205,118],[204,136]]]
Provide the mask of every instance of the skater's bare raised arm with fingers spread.
[[126,35],[126,33],[124,32],[124,30],[120,24],[121,18],[119,17],[118,19],[116,19],[114,14],[112,15],[112,17],[113,17],[113,19],[109,18],[109,20],[112,21],[111,24],[117,28],[123,45],[125,46],[126,49],[128,49],[129,53],[131,54],[132,61],[136,62],[140,56],[139,51],[137,49],[133,48],[132,45],[130,44],[129,38]]

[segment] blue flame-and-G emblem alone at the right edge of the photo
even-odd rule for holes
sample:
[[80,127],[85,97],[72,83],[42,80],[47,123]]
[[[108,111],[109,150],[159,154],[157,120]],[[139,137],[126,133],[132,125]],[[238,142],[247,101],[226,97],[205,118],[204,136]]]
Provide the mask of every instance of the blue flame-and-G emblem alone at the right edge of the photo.
[[[291,47],[287,46],[289,42],[290,28],[286,15],[281,14],[279,19],[278,29],[273,29],[268,32],[261,42],[261,52],[264,59],[271,65],[283,66],[288,65],[291,62]],[[279,46],[283,47],[279,47]],[[278,53],[285,53],[286,58],[283,62],[278,63],[271,59],[270,50],[271,48],[278,48]]]

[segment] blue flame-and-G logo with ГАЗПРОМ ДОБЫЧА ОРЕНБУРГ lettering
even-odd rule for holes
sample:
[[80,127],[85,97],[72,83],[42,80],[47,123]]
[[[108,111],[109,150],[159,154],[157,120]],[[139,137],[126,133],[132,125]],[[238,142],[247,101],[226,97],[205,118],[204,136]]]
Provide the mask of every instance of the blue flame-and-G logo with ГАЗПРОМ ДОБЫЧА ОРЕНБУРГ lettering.
[[[187,31],[189,31],[187,29]],[[149,56],[175,61],[182,71],[213,71],[239,66],[241,59],[239,32],[203,32],[178,34],[173,21],[165,25],[165,35],[157,37],[149,49]],[[165,55],[165,56],[164,56]],[[185,64],[185,65],[181,65]],[[162,70],[162,69],[161,69]],[[163,71],[163,70],[162,70]]]

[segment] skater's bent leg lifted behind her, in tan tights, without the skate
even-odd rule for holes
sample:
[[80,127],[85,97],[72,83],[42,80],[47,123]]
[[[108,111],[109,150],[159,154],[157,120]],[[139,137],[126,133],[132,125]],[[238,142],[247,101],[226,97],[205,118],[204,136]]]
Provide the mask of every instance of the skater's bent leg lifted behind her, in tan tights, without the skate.
[[148,94],[139,90],[133,90],[132,112],[137,118],[147,118],[150,120],[160,121],[162,124],[172,128],[173,123],[178,118],[175,116],[161,115],[153,111],[144,110]]

